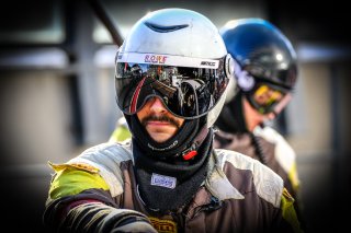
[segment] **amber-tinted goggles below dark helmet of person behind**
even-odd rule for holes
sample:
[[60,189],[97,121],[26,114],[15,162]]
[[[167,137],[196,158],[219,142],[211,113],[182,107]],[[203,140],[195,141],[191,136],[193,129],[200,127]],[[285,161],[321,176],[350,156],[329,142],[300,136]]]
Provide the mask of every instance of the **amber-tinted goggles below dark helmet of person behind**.
[[278,115],[290,102],[292,95],[267,83],[258,83],[249,93],[250,104],[260,113]]

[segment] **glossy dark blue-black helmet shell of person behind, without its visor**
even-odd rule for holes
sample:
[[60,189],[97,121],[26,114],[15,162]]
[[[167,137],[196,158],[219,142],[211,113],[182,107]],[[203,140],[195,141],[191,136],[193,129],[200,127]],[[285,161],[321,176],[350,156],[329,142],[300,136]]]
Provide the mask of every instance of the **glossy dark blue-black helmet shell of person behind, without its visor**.
[[[236,77],[239,88],[248,90],[254,81],[262,80],[292,90],[297,78],[296,53],[282,32],[261,19],[234,20],[220,28],[228,53],[236,60]],[[246,78],[246,80],[240,80]]]

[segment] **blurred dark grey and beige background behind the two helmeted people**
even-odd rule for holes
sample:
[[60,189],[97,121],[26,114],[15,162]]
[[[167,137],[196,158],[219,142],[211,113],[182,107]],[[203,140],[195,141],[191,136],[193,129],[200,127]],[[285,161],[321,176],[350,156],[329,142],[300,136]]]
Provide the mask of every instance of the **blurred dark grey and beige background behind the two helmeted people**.
[[[219,28],[261,18],[297,51],[295,97],[275,121],[297,153],[309,232],[341,232],[350,217],[351,34],[342,1],[101,0],[124,38],[147,12],[199,11]],[[84,0],[11,0],[0,8],[1,229],[47,232],[42,214],[52,171],[109,139],[117,46]]]

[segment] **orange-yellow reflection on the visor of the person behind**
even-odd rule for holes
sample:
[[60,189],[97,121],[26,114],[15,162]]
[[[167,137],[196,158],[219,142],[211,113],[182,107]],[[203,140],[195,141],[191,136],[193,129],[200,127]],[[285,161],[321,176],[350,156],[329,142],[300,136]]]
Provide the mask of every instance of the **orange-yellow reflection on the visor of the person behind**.
[[261,114],[274,112],[275,106],[282,102],[285,93],[267,84],[259,84],[250,95],[251,105]]

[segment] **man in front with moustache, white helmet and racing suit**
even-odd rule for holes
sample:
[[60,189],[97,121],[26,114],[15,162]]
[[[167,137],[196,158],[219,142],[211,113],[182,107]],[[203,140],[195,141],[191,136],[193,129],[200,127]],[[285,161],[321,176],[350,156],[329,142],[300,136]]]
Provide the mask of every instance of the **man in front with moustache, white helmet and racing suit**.
[[214,24],[184,9],[141,18],[116,56],[132,140],[52,164],[44,222],[58,232],[298,232],[270,168],[213,150],[233,60]]

